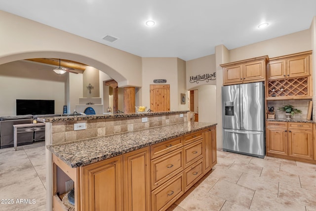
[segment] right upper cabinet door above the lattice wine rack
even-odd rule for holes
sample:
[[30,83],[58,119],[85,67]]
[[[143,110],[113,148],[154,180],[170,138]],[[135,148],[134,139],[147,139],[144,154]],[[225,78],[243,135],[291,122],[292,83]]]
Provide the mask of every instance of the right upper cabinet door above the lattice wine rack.
[[309,56],[297,56],[286,60],[287,77],[309,76]]

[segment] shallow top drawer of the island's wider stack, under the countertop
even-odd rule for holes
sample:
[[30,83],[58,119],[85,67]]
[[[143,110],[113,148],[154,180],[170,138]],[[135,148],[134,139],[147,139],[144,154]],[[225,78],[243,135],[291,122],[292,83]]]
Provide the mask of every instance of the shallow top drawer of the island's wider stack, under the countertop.
[[151,159],[158,158],[161,155],[167,154],[175,149],[182,147],[182,137],[173,138],[150,147]]

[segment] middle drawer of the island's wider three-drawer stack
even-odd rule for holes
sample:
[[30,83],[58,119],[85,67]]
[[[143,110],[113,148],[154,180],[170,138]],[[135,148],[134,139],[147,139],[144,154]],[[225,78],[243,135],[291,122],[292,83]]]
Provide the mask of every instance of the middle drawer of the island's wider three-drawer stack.
[[172,176],[183,171],[183,148],[177,149],[151,161],[152,190],[169,180]]

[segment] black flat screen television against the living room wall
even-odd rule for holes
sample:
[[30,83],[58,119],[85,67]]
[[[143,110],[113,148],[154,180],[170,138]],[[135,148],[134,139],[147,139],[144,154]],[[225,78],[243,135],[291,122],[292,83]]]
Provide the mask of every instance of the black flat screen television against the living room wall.
[[16,100],[16,115],[55,114],[55,100]]

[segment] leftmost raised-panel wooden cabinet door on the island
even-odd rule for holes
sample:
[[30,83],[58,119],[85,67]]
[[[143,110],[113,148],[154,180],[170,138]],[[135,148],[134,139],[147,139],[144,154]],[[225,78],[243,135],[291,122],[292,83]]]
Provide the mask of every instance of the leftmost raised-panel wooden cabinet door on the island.
[[82,210],[121,211],[122,156],[82,167]]

